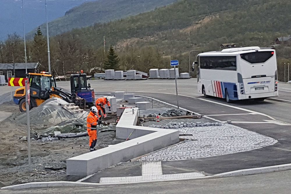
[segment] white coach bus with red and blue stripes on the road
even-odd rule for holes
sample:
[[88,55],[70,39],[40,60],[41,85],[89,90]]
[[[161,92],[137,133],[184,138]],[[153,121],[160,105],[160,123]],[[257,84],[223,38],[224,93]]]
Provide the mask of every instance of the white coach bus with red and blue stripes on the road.
[[[198,92],[233,100],[264,100],[278,96],[274,49],[243,47],[200,53],[197,56]],[[193,67],[194,68],[194,67]]]

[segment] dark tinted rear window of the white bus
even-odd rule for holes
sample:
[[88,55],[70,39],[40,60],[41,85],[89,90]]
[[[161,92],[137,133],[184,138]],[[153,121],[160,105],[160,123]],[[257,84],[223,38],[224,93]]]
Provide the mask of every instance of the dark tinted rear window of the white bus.
[[260,51],[241,54],[240,57],[249,63],[265,63],[274,55],[274,51]]

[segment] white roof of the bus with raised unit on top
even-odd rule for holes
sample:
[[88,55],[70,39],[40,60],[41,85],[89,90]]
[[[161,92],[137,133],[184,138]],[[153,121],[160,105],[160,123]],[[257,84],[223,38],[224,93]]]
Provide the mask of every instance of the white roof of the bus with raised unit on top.
[[240,48],[230,48],[223,49],[222,51],[210,51],[205,53],[200,53],[199,56],[209,56],[209,55],[237,55],[248,53],[249,51],[275,51],[274,49],[260,49],[260,47],[240,47]]

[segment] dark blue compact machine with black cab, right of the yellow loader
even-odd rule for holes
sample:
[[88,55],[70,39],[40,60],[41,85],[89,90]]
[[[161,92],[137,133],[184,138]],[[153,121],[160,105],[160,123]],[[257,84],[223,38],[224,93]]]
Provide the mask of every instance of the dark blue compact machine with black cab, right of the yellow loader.
[[95,104],[95,92],[90,83],[87,85],[87,75],[85,73],[71,74],[71,93],[73,97],[85,100],[89,108]]

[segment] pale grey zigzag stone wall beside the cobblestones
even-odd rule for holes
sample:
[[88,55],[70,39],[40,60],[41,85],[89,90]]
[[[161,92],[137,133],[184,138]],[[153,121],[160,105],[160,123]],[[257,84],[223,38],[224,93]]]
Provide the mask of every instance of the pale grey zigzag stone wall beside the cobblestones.
[[134,114],[130,110],[116,125],[116,137],[126,139],[132,133],[132,140],[67,159],[67,175],[87,176],[179,142],[179,131],[136,126],[138,108]]

